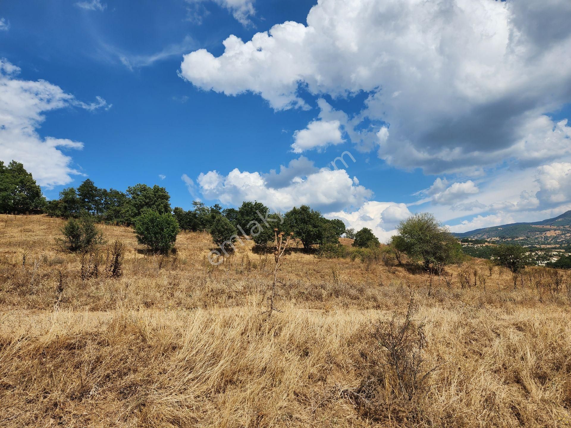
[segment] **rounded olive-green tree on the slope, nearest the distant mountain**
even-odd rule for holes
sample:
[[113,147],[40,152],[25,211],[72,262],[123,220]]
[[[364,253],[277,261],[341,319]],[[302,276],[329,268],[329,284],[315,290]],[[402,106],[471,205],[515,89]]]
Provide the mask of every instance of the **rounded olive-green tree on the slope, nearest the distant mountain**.
[[412,260],[421,261],[426,269],[430,265],[454,263],[461,257],[461,246],[430,213],[418,213],[401,221],[400,238],[396,239],[396,249]]

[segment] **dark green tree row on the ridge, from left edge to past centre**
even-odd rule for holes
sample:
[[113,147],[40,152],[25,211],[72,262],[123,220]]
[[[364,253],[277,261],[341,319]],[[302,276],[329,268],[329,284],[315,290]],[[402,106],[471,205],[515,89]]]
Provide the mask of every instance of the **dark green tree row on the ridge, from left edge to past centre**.
[[[190,211],[179,207],[172,209],[170,195],[158,185],[136,184],[122,192],[99,188],[90,179],[77,188],[63,189],[58,199],[47,201],[31,173],[21,163],[11,161],[5,166],[0,161],[1,213],[47,213],[65,219],[89,217],[91,221],[146,229],[147,236],[152,229],[156,229],[155,235],[159,230],[170,231],[171,236],[167,240],[172,240],[173,234],[176,237],[180,229],[207,231],[212,233],[213,241],[217,244],[232,240],[232,237],[248,235],[256,244],[266,245],[273,239],[274,228],[278,228],[280,231],[294,232],[305,248],[311,248],[316,244],[337,243],[345,232],[343,221],[325,219],[319,211],[307,205],[293,208],[282,216],[280,213],[269,213],[268,208],[257,201],[244,202],[238,209],[222,209],[218,204],[207,207],[199,201],[192,204]],[[75,229],[75,239],[79,224],[83,223],[71,222],[69,225],[70,232]],[[158,241],[161,239],[156,236],[147,244],[152,248],[168,247]]]

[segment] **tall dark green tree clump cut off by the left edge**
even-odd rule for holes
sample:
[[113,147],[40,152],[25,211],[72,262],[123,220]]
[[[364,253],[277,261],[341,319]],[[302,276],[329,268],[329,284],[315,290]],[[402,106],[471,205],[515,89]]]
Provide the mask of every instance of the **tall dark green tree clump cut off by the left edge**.
[[42,212],[46,199],[31,173],[19,162],[0,161],[0,213]]

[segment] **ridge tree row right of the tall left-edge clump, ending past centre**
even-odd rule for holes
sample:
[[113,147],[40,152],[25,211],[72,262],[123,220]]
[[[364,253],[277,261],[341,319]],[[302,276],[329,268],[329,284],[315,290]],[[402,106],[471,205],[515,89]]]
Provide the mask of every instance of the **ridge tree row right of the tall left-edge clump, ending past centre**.
[[[46,213],[57,217],[93,216],[108,223],[135,225],[144,211],[159,215],[170,214],[184,231],[206,231],[212,233],[216,244],[222,244],[232,236],[252,236],[255,243],[265,245],[279,231],[294,232],[305,248],[312,245],[337,242],[345,232],[341,220],[328,220],[319,211],[302,205],[285,215],[269,213],[268,207],[258,201],[246,201],[238,209],[222,209],[215,204],[207,207],[194,201],[193,209],[185,211],[171,208],[170,195],[164,187],[136,184],[126,192],[102,189],[93,181],[83,181],[77,189],[70,187],[59,193],[59,199],[47,203]],[[235,239],[235,238],[234,238]]]

